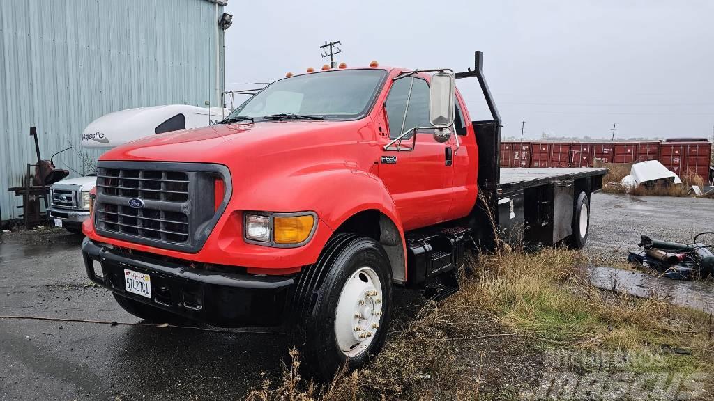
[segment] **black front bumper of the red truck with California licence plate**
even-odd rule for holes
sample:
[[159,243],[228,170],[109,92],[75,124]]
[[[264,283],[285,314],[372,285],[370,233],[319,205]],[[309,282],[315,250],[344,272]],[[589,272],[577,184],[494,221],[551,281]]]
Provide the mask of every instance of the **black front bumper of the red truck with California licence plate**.
[[[281,325],[295,286],[293,278],[200,270],[125,253],[89,238],[82,243],[82,255],[94,283],[117,295],[218,327]],[[151,276],[151,298],[125,290],[124,268]]]

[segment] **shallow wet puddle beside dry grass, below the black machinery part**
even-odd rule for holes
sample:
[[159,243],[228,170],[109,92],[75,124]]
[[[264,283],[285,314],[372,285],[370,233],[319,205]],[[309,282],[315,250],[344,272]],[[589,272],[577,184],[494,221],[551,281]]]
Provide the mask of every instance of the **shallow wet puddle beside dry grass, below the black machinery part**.
[[588,267],[590,284],[603,290],[628,293],[640,298],[665,297],[671,304],[714,314],[714,286],[698,281],[678,281],[647,273]]

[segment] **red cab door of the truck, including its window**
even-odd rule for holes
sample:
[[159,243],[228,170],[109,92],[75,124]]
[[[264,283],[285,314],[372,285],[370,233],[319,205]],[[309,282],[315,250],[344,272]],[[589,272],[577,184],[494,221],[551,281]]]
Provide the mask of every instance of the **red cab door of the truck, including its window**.
[[[410,86],[411,77],[393,81],[381,114],[381,126],[386,127],[386,132],[379,136],[382,146],[379,176],[396,203],[405,230],[448,220],[453,196],[452,139],[438,143],[433,130],[422,130],[416,133],[413,151],[383,150],[383,146],[401,134],[403,122],[404,131],[431,125],[429,87],[423,78],[414,78],[404,121]],[[403,147],[411,147],[412,135],[403,138]]]

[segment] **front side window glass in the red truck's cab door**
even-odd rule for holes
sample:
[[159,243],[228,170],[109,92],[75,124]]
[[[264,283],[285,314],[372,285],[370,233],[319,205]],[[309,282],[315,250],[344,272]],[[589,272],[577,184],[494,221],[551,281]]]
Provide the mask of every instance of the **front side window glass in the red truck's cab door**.
[[[385,103],[387,119],[389,120],[389,137],[394,139],[401,135],[401,126],[406,108],[406,98],[409,95],[411,78],[401,78],[395,81]],[[406,115],[404,131],[409,128],[430,126],[429,123],[429,86],[421,78],[414,80],[409,100],[409,110]]]

